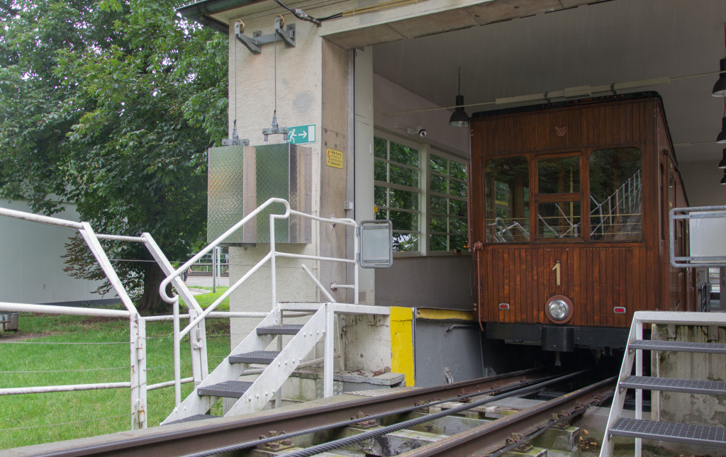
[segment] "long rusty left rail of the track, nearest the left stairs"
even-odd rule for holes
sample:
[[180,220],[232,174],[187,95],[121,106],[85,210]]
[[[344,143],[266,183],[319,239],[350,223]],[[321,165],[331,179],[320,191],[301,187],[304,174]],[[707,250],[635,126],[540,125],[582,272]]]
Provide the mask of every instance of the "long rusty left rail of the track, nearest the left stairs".
[[518,384],[541,379],[551,374],[549,369],[529,369],[509,374],[489,376],[473,381],[457,382],[445,386],[412,389],[379,397],[362,398],[342,403],[312,403],[309,408],[276,413],[243,416],[241,419],[208,419],[184,424],[155,427],[123,434],[52,443],[33,448],[24,448],[23,456],[138,456],[139,453],[153,456],[181,456],[201,453],[211,449],[237,445],[240,442],[257,440],[269,430],[295,432],[310,429],[310,424],[336,424],[356,416],[359,411],[371,416],[410,407],[414,403],[425,403],[440,398],[466,397],[492,389],[515,387]]

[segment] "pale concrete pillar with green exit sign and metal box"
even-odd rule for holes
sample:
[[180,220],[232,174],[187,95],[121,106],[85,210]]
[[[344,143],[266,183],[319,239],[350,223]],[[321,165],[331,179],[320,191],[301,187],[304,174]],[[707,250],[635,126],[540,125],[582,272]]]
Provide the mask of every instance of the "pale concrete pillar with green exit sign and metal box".
[[[232,21],[234,24],[234,21]],[[229,129],[237,121],[240,138],[250,144],[264,144],[263,128],[271,127],[277,107],[277,123],[281,127],[314,124],[317,141],[303,144],[312,152],[311,201],[312,213],[322,217],[346,217],[346,174],[351,163],[348,151],[348,52],[319,36],[319,28],[310,22],[295,20],[295,47],[282,41],[261,46],[261,54],[251,54],[234,37],[229,37]],[[245,19],[243,33],[252,36],[273,33],[274,16],[262,15]],[[269,136],[269,144],[284,143],[286,136]],[[343,168],[327,163],[327,149],[343,153]],[[348,229],[350,230],[350,229]],[[343,257],[346,255],[346,235],[343,226],[327,223],[312,225],[309,244],[277,244],[280,251],[305,255]],[[269,252],[269,244],[230,247],[230,284]],[[343,264],[319,263],[309,260],[277,259],[277,301],[318,301],[319,291],[301,268],[305,263],[326,287],[332,282],[348,284]],[[269,268],[250,277],[232,295],[230,308],[234,311],[267,311],[272,308]],[[346,301],[343,292],[331,292],[338,301]],[[250,319],[232,321],[232,347],[256,326]]]

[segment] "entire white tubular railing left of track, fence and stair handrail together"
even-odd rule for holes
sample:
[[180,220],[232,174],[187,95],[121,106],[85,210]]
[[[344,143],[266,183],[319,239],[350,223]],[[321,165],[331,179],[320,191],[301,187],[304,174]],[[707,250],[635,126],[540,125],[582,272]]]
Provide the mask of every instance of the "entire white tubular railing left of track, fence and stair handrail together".
[[[270,214],[269,215],[269,227],[270,227],[270,251],[265,257],[260,260],[253,268],[245,273],[242,278],[231,284],[229,289],[224,292],[217,300],[215,300],[207,309],[203,310],[197,303],[192,292],[189,291],[184,281],[181,279],[181,275],[184,271],[197,263],[209,252],[215,250],[221,242],[224,242],[228,236],[237,231],[240,227],[244,226],[245,223],[253,220],[259,213],[269,207],[270,205],[278,203],[285,206],[285,213],[282,214]],[[339,224],[354,228],[354,256],[352,259],[348,258],[327,258],[316,255],[295,255],[286,252],[278,252],[275,249],[274,241],[274,224],[278,219],[290,218],[295,215],[302,218],[309,218],[312,221],[318,221],[322,223]],[[39,387],[13,387],[7,389],[0,389],[0,395],[20,395],[28,393],[40,393],[40,392],[69,392],[76,390],[95,390],[95,389],[118,389],[125,388],[130,390],[131,400],[131,429],[145,428],[147,427],[147,391],[160,389],[163,387],[174,386],[174,396],[176,405],[181,402],[181,384],[186,382],[199,383],[208,375],[208,360],[207,360],[207,344],[206,344],[206,332],[205,332],[205,320],[207,318],[231,318],[231,317],[243,317],[243,318],[261,318],[266,316],[268,313],[256,313],[256,312],[219,312],[215,309],[223,302],[229,295],[237,290],[242,283],[244,283],[250,276],[258,271],[262,265],[269,262],[271,267],[272,276],[272,306],[277,304],[277,274],[275,272],[275,263],[278,257],[286,258],[299,258],[306,260],[317,260],[317,261],[328,261],[328,262],[339,262],[348,263],[353,265],[354,268],[354,284],[336,284],[337,287],[345,289],[353,289],[354,291],[354,303],[358,303],[358,268],[359,265],[356,262],[359,252],[359,233],[358,224],[352,219],[335,219],[335,218],[319,218],[317,216],[309,215],[306,213],[300,213],[290,208],[289,202],[284,199],[272,198],[267,200],[263,205],[258,207],[248,216],[238,222],[232,228],[229,228],[224,234],[219,236],[218,239],[214,240],[211,244],[201,250],[197,255],[189,259],[187,263],[174,268],[169,262],[166,256],[158,247],[158,244],[148,233],[142,234],[142,236],[119,236],[110,234],[95,234],[89,223],[66,221],[60,218],[52,218],[43,215],[35,215],[31,213],[24,213],[17,210],[9,210],[7,208],[0,208],[0,216],[21,219],[24,221],[31,221],[36,223],[45,223],[52,226],[58,226],[62,228],[68,228],[76,230],[83,237],[88,245],[89,249],[94,255],[94,258],[99,263],[106,274],[110,284],[118,295],[119,299],[123,303],[125,310],[108,310],[102,308],[73,308],[65,306],[54,306],[54,305],[36,305],[28,303],[16,303],[16,302],[0,302],[0,311],[21,311],[30,313],[52,313],[52,314],[72,314],[76,316],[102,316],[102,317],[121,317],[129,318],[129,360],[130,360],[130,380],[129,382],[106,382],[97,384],[70,384],[70,385],[56,385],[56,386],[39,386]],[[167,277],[162,281],[160,286],[160,295],[166,302],[171,303],[173,308],[173,314],[171,316],[140,316],[134,303],[131,301],[129,294],[123,287],[121,279],[118,278],[113,265],[111,265],[109,258],[106,255],[102,244],[99,239],[105,239],[114,242],[137,242],[144,244],[149,250],[152,257],[158,263],[160,268]],[[308,271],[310,274],[310,272]],[[313,281],[323,290],[328,299],[330,294],[327,293],[324,287],[311,276]],[[171,284],[176,290],[176,294],[168,296],[166,294],[166,287]],[[184,300],[188,307],[188,313],[180,313],[179,310],[179,298]],[[334,301],[334,300],[333,300]],[[293,313],[294,314],[294,313]],[[292,316],[293,314],[290,314]],[[306,313],[296,313],[303,315]],[[181,318],[189,318],[189,324],[181,329]],[[168,382],[160,382],[158,384],[147,385],[147,353],[146,353],[146,323],[150,321],[173,321],[174,326],[174,380]],[[192,330],[197,330],[192,332]],[[191,347],[192,354],[192,377],[181,378],[181,339],[190,335],[189,344]],[[332,353],[331,353],[332,354]],[[331,355],[332,356],[332,355]],[[316,361],[319,363],[319,361]],[[332,366],[332,365],[331,365]],[[332,378],[331,378],[332,379]]]

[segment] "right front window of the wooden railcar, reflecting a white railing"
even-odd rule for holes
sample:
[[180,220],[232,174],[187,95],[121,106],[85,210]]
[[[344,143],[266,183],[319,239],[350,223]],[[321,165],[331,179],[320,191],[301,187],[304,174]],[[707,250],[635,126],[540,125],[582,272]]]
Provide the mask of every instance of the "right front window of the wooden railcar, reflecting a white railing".
[[590,239],[643,239],[641,156],[638,149],[599,149],[590,155]]

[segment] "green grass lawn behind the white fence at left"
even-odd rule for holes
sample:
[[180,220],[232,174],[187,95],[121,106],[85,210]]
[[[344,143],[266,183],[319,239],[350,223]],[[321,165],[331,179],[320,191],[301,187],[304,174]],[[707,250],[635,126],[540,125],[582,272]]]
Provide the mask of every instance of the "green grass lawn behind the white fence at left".
[[[197,298],[200,304],[208,305],[222,292],[218,289],[217,294],[197,295]],[[127,320],[27,313],[20,316],[19,327],[19,336],[23,338],[12,341],[23,344],[4,344],[11,334],[0,335],[0,388],[129,381]],[[229,354],[229,321],[214,319],[206,328],[211,370]],[[147,384],[174,379],[171,329],[171,321],[147,322]],[[27,342],[82,344],[25,344]],[[93,344],[116,342],[122,344]],[[181,377],[192,376],[188,342],[182,342],[181,356]],[[182,384],[181,398],[191,391],[191,383]],[[149,426],[158,425],[173,408],[174,387],[150,391]],[[0,449],[131,428],[129,389],[126,388],[5,395],[0,397],[0,411]]]

